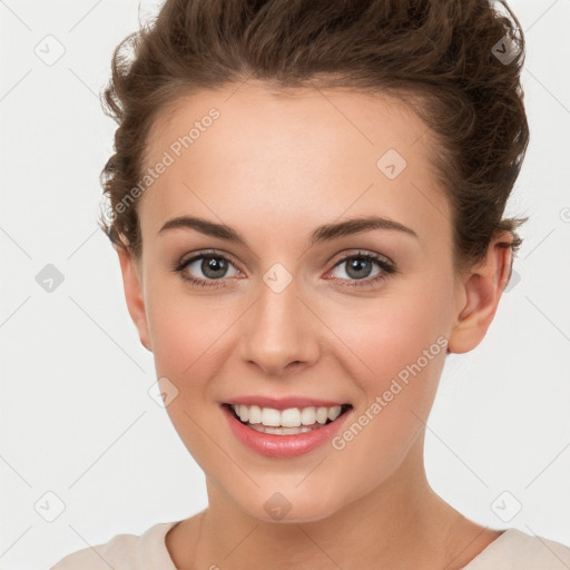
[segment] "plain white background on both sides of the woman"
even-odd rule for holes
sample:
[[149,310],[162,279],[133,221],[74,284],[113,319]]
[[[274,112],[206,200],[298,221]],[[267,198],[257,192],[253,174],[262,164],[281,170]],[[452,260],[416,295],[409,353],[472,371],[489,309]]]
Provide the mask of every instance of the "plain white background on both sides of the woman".
[[[207,504],[148,393],[153,355],[96,225],[115,131],[98,94],[112,49],[158,3],[0,1],[0,568],[49,568]],[[531,219],[487,337],[448,358],[425,461],[470,519],[570,544],[570,1],[510,6],[531,142],[508,214]],[[63,278],[51,292],[37,279],[48,264]]]

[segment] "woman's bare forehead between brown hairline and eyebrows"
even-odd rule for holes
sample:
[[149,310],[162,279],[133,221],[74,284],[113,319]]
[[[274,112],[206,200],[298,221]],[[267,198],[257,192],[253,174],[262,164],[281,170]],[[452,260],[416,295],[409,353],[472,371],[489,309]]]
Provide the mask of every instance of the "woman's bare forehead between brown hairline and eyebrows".
[[256,83],[199,91],[165,109],[149,134],[145,169],[167,166],[145,191],[140,217],[158,232],[167,218],[198,210],[307,228],[376,214],[429,230],[449,220],[431,137],[386,96]]

